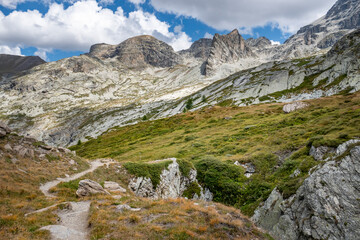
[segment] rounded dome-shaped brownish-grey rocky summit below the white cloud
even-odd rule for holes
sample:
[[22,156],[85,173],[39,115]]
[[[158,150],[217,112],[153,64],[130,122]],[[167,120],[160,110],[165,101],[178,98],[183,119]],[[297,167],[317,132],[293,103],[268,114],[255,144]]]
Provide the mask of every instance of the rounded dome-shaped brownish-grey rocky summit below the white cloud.
[[89,55],[101,60],[116,58],[130,68],[171,67],[180,61],[170,45],[149,35],[129,38],[119,45],[96,44],[91,46]]

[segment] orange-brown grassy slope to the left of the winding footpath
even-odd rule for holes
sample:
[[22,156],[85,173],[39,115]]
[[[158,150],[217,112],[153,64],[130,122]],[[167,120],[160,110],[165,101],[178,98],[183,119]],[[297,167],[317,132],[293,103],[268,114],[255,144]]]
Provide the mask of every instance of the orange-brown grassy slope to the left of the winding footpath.
[[[35,152],[34,158],[21,157],[7,150],[6,144],[27,146],[36,150],[38,143],[26,144],[22,137],[8,135],[0,138],[0,239],[50,239],[46,232],[37,231],[40,227],[54,224],[57,216],[51,211],[25,217],[25,213],[48,207],[57,199],[47,199],[39,190],[41,183],[88,168],[87,163],[64,153],[49,153],[47,160],[40,160]],[[12,163],[11,159],[17,159]],[[69,160],[77,162],[77,170]]]

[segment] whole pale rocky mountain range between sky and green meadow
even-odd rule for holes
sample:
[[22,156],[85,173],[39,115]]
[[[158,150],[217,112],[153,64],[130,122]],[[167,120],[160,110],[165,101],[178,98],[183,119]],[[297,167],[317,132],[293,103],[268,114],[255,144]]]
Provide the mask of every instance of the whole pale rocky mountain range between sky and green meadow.
[[[326,31],[331,34],[352,32],[347,27],[357,24],[348,22],[357,21],[358,6],[357,1],[338,1],[318,22],[329,26]],[[118,125],[177,114],[189,99],[197,108],[225,100],[245,105],[316,98],[347,88],[356,91],[354,56],[325,56],[330,48],[306,45],[306,32],[315,30],[304,29],[280,46],[263,37],[244,40],[237,30],[201,39],[178,53],[151,36],[118,45],[96,44],[88,54],[1,79],[0,116],[20,134],[65,146]],[[319,36],[316,42],[326,31],[320,27],[314,33]],[[313,86],[306,85],[309,81]],[[330,86],[314,88],[320,83]],[[304,92],[307,88],[311,90]]]

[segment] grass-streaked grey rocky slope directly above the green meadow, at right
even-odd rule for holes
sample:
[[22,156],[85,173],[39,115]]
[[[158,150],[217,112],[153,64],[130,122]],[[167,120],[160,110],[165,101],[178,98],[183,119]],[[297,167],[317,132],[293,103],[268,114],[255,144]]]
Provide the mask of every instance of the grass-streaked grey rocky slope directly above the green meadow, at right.
[[[323,56],[262,64],[219,80],[161,111],[170,116],[207,105],[290,102],[360,89],[360,30],[343,37]],[[190,99],[190,100],[189,100]]]

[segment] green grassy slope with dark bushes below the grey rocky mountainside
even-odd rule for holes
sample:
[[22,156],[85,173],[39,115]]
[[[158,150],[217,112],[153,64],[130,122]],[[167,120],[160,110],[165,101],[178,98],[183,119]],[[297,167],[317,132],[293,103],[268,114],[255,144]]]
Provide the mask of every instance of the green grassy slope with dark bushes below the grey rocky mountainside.
[[[307,177],[308,170],[318,164],[308,156],[309,142],[336,146],[349,138],[360,137],[359,93],[309,103],[309,108],[290,114],[284,114],[283,104],[277,103],[215,106],[114,128],[97,139],[74,146],[73,150],[83,157],[112,157],[120,162],[169,157],[192,161],[203,176],[201,182],[218,192],[216,200],[240,207],[250,215],[274,186],[289,196]],[[225,165],[220,166],[213,158]],[[236,160],[252,162],[257,173],[249,180],[242,176],[227,177],[217,186],[211,186],[213,178],[219,177],[212,173],[224,171],[226,176],[229,164]],[[215,162],[205,166],[204,162],[209,161]],[[301,175],[290,178],[298,168]],[[221,189],[229,186],[236,193],[233,200],[225,201]]]

